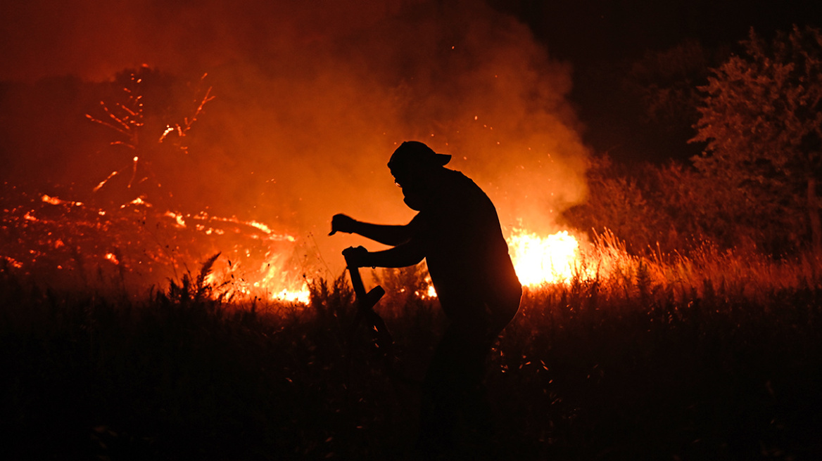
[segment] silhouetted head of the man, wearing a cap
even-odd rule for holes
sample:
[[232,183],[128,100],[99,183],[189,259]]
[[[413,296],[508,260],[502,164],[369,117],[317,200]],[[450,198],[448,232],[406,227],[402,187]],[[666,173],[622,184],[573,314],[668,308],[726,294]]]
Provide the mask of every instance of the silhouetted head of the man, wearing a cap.
[[450,162],[451,156],[436,153],[418,141],[405,141],[388,161],[394,182],[403,189],[405,203],[414,210],[425,206],[432,193],[433,172]]

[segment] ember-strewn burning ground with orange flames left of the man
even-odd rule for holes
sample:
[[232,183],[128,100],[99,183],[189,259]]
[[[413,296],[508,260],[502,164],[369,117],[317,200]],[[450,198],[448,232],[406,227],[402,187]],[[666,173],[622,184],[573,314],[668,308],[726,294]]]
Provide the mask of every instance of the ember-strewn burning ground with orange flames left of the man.
[[219,253],[205,280],[225,288],[215,294],[307,302],[299,243],[256,221],[161,211],[139,198],[91,208],[9,185],[2,206],[5,270],[55,289],[140,292],[179,281]]

